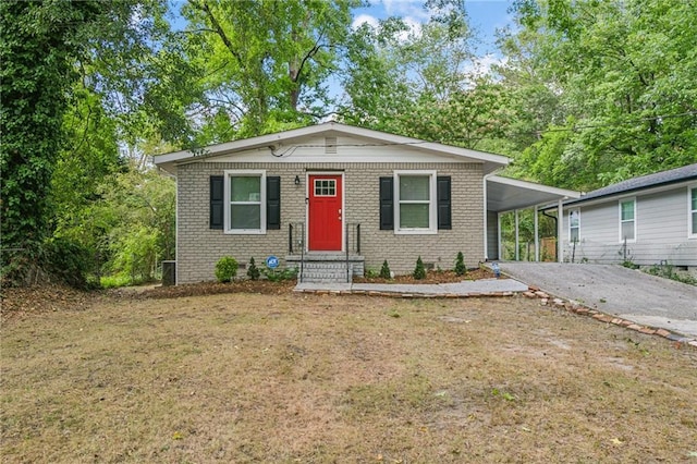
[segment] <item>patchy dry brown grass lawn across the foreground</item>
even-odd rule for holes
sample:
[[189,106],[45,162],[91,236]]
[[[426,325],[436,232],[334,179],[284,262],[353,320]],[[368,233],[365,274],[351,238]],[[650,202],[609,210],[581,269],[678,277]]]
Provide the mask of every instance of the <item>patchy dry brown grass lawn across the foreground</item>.
[[1,334],[3,462],[697,463],[697,351],[519,297],[101,297]]

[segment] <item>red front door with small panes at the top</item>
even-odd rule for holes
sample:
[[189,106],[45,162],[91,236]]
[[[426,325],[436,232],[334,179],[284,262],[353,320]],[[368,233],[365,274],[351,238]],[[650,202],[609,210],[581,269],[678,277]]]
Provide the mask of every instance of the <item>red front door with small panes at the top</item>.
[[341,180],[341,174],[309,175],[307,222],[310,252],[341,252],[344,216]]

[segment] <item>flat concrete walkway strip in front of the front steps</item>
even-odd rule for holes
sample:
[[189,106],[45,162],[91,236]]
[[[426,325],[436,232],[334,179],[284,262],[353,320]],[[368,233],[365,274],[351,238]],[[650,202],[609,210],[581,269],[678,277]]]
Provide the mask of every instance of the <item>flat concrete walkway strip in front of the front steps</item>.
[[514,279],[465,280],[456,283],[298,283],[296,292],[384,293],[430,296],[486,296],[527,291],[527,285]]

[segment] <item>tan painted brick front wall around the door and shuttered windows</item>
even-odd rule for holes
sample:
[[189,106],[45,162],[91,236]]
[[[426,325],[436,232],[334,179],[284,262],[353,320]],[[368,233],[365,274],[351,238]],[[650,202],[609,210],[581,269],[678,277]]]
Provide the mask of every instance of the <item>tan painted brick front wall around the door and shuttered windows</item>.
[[[395,273],[408,273],[420,255],[426,264],[451,269],[457,252],[475,266],[484,258],[482,172],[477,163],[346,163],[344,171],[344,220],[360,223],[360,252],[366,267],[378,270],[387,259]],[[225,169],[264,169],[281,176],[281,230],[266,235],[230,235],[211,230],[209,176]],[[215,280],[215,266],[222,256],[246,264],[254,257],[261,265],[269,255],[288,254],[289,223],[305,221],[305,173],[337,169],[334,163],[221,163],[197,162],[179,167],[178,172],[178,283]],[[436,235],[395,235],[381,231],[379,223],[379,180],[394,170],[436,170],[452,176],[452,230]],[[294,184],[298,175],[303,183]],[[241,270],[241,273],[244,273]]]

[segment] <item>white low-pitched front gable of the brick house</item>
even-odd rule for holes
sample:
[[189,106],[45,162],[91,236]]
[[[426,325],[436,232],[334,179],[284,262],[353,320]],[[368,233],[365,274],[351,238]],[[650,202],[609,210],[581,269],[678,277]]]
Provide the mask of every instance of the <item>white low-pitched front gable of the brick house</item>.
[[[337,142],[332,144],[335,137]],[[327,142],[329,141],[329,142]],[[271,162],[458,161],[481,163],[485,173],[509,163],[500,155],[339,124],[318,124],[258,137],[210,145],[200,151],[156,156],[157,166],[176,172],[179,163],[198,160]]]

